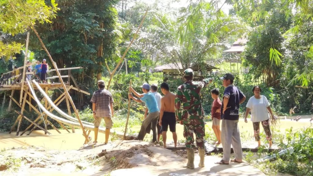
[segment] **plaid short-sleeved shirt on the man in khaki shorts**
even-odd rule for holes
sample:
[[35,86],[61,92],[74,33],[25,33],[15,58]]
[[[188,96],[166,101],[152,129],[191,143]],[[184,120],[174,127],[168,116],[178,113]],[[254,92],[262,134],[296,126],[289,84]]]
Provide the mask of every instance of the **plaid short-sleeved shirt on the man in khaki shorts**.
[[96,116],[97,117],[111,117],[110,104],[113,103],[111,92],[99,89],[95,91],[90,100],[91,103],[96,104]]

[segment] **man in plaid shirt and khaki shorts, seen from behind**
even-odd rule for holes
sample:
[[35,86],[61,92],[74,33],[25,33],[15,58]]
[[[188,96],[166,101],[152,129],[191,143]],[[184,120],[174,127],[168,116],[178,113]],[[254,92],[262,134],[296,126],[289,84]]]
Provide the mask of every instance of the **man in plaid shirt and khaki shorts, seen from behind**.
[[97,143],[98,130],[100,126],[101,119],[105,122],[105,144],[108,143],[110,129],[113,126],[111,117],[114,116],[113,111],[113,98],[110,91],[104,90],[105,82],[104,80],[98,81],[98,91],[95,91],[92,95],[90,102],[92,103],[92,112],[95,118],[95,141]]

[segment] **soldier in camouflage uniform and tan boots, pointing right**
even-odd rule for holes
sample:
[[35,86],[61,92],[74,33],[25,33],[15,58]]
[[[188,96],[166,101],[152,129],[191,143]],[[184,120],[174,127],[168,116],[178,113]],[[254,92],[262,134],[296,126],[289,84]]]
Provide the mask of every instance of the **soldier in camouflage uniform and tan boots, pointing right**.
[[200,91],[208,85],[212,79],[204,79],[196,82],[193,80],[193,70],[186,69],[184,71],[184,79],[186,82],[177,89],[175,107],[176,120],[184,125],[184,137],[186,138],[188,163],[185,168],[194,168],[194,138],[196,134],[196,143],[200,155],[200,167],[204,167],[204,111],[201,104]]

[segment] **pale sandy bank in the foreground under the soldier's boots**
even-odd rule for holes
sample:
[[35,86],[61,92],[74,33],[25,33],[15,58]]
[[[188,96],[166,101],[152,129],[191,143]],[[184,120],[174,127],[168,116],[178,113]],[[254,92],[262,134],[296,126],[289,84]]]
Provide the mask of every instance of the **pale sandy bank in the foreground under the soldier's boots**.
[[21,166],[14,167],[14,164],[11,164],[7,170],[0,171],[0,175],[264,175],[247,163],[216,165],[214,162],[220,158],[213,156],[206,156],[206,167],[199,168],[197,153],[194,162],[196,168],[185,169],[183,165],[187,162],[186,158],[143,141],[115,141],[107,145],[99,144],[63,151],[41,147],[14,148],[1,152],[0,166],[8,161],[8,158],[20,158]]

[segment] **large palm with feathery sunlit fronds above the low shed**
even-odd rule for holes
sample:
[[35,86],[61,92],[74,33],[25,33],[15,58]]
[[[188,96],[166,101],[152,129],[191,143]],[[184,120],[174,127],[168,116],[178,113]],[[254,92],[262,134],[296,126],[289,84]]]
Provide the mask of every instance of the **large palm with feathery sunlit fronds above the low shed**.
[[212,4],[204,1],[181,8],[177,20],[172,20],[171,14],[154,14],[135,46],[142,48],[151,62],[173,63],[177,68],[178,63],[188,68],[220,54],[228,41],[244,30],[236,18],[223,12],[217,16]]

